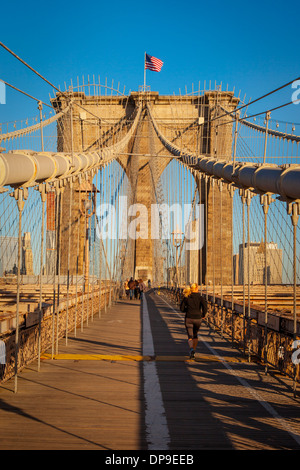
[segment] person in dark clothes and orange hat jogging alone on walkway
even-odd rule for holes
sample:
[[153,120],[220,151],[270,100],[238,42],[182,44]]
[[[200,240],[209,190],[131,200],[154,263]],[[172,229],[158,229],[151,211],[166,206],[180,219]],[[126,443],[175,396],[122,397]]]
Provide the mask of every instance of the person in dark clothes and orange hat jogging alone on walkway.
[[198,331],[202,319],[207,313],[207,304],[204,297],[198,292],[198,284],[191,285],[190,293],[187,292],[183,297],[180,310],[185,313],[185,328],[190,348],[190,359],[194,359],[198,344]]

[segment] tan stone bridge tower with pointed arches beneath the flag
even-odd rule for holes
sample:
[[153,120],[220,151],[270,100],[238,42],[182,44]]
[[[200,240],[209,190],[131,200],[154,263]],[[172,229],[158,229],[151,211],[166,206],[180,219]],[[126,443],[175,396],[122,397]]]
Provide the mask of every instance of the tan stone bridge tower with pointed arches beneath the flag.
[[[151,225],[151,204],[155,203],[153,184],[157,183],[160,175],[171,161],[172,155],[163,147],[153,128],[147,109],[150,107],[155,115],[158,125],[167,129],[167,138],[175,142],[182,149],[189,149],[197,156],[205,155],[222,160],[231,160],[232,152],[232,126],[231,117],[225,113],[217,121],[208,118],[216,116],[217,109],[232,111],[238,104],[232,92],[207,91],[200,96],[162,95],[158,92],[131,92],[128,96],[88,96],[83,92],[67,92],[57,94],[52,101],[57,112],[66,110],[70,101],[73,105],[58,121],[58,151],[92,152],[101,151],[105,146],[112,145],[115,139],[115,130],[122,129],[124,134],[130,116],[133,116],[139,105],[142,106],[139,124],[136,132],[129,141],[126,151],[118,155],[118,162],[126,171],[132,188],[132,200],[136,204],[143,204],[148,209],[148,225]],[[76,105],[75,105],[76,103]],[[216,105],[221,105],[216,106]],[[84,108],[84,109],[83,109]],[[220,111],[218,111],[220,112]],[[70,125],[70,122],[72,125]],[[222,125],[227,122],[227,125]],[[196,123],[196,125],[195,125]],[[219,126],[217,126],[218,123]],[[161,158],[160,158],[161,156]],[[170,158],[168,158],[168,156]],[[82,185],[91,185],[89,181],[82,181]],[[198,282],[209,283],[214,276],[216,283],[221,276],[221,250],[222,250],[222,280],[223,284],[231,284],[231,250],[232,250],[232,197],[229,192],[222,190],[222,185],[212,179],[199,178],[196,181],[204,204],[207,198],[207,211],[205,213],[205,240],[204,245],[197,254]],[[50,196],[51,197],[51,196]],[[221,201],[222,198],[222,201]],[[52,202],[53,203],[53,202]],[[51,204],[49,198],[48,204]],[[70,188],[66,187],[63,194],[61,218],[61,246],[67,246],[69,238],[69,224],[71,224],[71,246],[79,236],[80,253],[78,258],[78,272],[83,270],[85,227],[80,219],[80,191],[75,188],[71,218],[69,217]],[[220,210],[222,217],[220,217]],[[79,223],[77,223],[79,222]],[[214,227],[213,227],[214,225]],[[153,240],[151,230],[147,238],[140,237],[135,240],[133,259],[128,261],[130,273],[135,277],[153,279]],[[141,234],[142,235],[142,234]],[[222,243],[220,243],[220,236]],[[61,250],[61,273],[67,271],[66,251]],[[212,254],[215,263],[213,268]],[[224,263],[224,254],[227,254],[228,263]],[[75,257],[70,260],[70,273],[76,272]],[[196,259],[197,258],[197,259]],[[199,262],[201,260],[201,262]],[[193,260],[192,260],[193,262]],[[130,264],[132,263],[132,264]]]

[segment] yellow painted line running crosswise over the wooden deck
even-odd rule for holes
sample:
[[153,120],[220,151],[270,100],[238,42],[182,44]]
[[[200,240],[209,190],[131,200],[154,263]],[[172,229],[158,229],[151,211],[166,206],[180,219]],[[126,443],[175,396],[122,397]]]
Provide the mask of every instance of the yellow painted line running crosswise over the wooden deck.
[[[157,362],[221,362],[216,356],[196,355],[195,359],[188,356],[138,356],[138,355],[113,355],[113,354],[42,354],[42,360],[60,361],[157,361]],[[248,362],[247,358],[223,357],[227,362]]]

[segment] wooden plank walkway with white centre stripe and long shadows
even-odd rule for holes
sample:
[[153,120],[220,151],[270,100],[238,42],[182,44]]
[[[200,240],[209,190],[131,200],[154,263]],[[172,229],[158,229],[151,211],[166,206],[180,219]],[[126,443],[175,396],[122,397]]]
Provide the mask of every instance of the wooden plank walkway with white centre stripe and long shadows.
[[162,295],[120,301],[0,386],[0,449],[300,449],[300,396]]

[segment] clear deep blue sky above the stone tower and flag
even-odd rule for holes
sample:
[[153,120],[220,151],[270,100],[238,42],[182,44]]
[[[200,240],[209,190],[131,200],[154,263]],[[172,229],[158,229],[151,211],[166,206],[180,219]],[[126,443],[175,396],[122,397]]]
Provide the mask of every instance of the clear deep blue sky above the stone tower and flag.
[[[160,94],[190,92],[222,82],[255,99],[300,76],[295,1],[5,2],[1,42],[55,85],[100,75],[126,92],[143,84],[144,52],[164,61],[147,71]],[[49,102],[51,87],[0,48],[0,78]],[[300,87],[299,87],[300,89]],[[264,111],[291,100],[291,87],[251,108]],[[300,93],[298,98],[300,98]],[[36,104],[7,89],[0,122],[37,114]],[[300,104],[272,115],[300,123]]]

